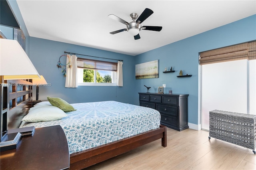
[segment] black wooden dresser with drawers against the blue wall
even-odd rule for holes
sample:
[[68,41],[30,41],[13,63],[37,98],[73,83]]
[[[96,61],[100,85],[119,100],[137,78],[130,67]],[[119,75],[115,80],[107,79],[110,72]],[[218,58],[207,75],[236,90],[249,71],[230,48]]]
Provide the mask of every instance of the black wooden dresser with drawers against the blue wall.
[[139,93],[140,106],[156,109],[161,114],[161,125],[184,130],[188,128],[188,95]]

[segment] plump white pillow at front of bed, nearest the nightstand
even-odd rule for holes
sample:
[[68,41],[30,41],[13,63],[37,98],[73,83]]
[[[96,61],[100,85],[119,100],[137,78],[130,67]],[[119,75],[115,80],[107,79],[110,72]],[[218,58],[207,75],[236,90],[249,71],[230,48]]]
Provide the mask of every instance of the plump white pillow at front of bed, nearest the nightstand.
[[60,108],[55,106],[41,106],[30,110],[22,121],[26,122],[42,122],[55,121],[66,117],[67,114]]

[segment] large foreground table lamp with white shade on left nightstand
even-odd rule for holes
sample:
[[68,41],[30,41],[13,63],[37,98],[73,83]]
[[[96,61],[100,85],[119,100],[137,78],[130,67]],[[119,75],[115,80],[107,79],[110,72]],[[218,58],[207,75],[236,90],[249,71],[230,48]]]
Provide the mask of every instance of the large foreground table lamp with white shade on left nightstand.
[[[9,96],[6,95],[8,80],[36,79],[39,73],[30,61],[28,55],[16,40],[0,39],[0,146],[4,146],[10,140],[17,140],[20,133],[13,138],[8,136]],[[7,139],[8,138],[8,139]]]

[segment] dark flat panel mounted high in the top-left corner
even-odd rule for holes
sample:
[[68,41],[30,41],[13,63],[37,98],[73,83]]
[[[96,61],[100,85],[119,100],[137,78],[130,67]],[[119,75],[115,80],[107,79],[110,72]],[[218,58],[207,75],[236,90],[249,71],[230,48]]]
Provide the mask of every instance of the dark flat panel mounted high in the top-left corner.
[[0,24],[20,29],[20,24],[16,20],[16,17],[6,0],[0,0]]

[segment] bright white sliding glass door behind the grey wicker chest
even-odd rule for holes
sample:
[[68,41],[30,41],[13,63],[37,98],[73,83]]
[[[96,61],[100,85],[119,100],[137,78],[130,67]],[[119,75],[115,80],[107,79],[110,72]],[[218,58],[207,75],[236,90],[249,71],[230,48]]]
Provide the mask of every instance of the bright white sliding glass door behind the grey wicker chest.
[[242,59],[201,66],[202,128],[209,111],[256,114],[256,60]]

